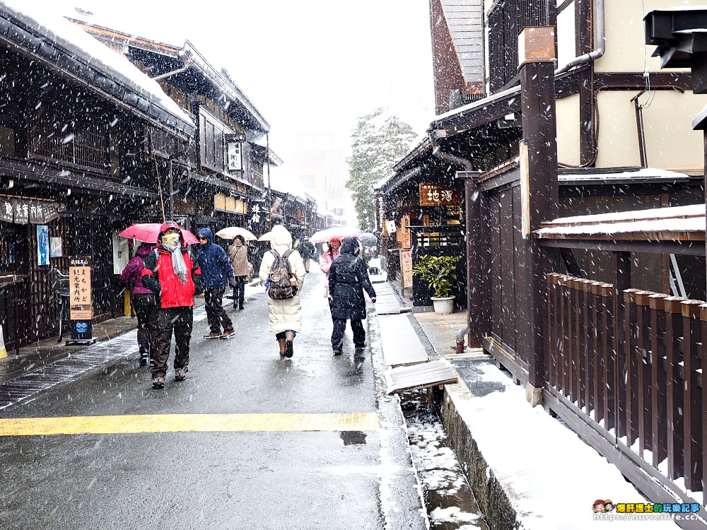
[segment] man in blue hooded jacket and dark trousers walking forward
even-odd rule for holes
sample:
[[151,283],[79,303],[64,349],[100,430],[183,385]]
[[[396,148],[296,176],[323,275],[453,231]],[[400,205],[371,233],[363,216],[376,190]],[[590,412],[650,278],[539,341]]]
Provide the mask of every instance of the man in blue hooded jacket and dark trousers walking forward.
[[[214,234],[209,228],[201,228],[197,232],[199,253],[197,261],[201,267],[201,278],[204,279],[204,301],[206,302],[206,319],[209,320],[211,331],[204,338],[230,338],[235,335],[233,323],[230,322],[226,310],[223,309],[223,293],[226,284],[235,286],[233,267],[230,259],[216,243],[211,242]],[[223,333],[221,327],[223,326]]]

